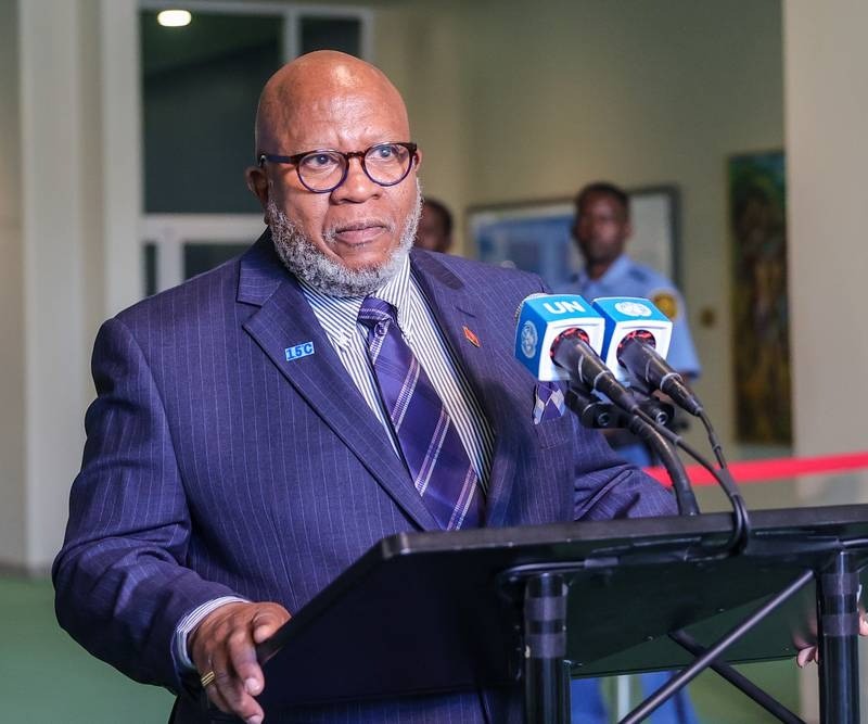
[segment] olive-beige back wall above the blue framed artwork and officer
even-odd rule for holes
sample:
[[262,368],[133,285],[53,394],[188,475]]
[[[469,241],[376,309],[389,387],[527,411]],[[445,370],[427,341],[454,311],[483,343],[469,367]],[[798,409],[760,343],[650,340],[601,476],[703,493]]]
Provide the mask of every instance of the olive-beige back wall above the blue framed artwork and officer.
[[[407,98],[424,187],[459,225],[473,204],[597,179],[680,188],[697,386],[733,458],[726,160],[783,145],[780,23],[779,0],[416,0],[378,16],[375,60]],[[746,496],[782,503],[780,486]]]

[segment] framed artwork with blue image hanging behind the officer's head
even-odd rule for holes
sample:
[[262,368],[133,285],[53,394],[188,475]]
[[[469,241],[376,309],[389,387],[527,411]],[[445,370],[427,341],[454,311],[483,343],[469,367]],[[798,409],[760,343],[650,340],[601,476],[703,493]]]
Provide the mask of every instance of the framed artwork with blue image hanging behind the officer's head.
[[[633,237],[628,251],[676,284],[679,281],[678,189],[655,186],[628,191]],[[476,257],[538,274],[552,289],[569,283],[582,262],[573,242],[573,198],[473,206],[468,238]]]

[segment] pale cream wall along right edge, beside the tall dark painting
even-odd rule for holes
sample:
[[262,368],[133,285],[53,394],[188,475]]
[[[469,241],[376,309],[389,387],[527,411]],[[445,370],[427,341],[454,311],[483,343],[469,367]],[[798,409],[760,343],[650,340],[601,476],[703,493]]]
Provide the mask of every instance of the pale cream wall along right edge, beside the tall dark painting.
[[[787,0],[783,27],[795,449],[865,449],[868,3]],[[866,503],[868,474],[803,483],[801,491],[805,505]],[[816,673],[802,684],[808,721],[816,721]]]

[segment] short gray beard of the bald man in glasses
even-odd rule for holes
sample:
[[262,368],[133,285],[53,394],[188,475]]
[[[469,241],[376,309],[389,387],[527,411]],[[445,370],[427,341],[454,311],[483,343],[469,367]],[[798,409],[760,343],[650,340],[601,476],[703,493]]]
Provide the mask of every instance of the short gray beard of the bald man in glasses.
[[[298,279],[323,294],[367,296],[392,279],[410,253],[422,213],[422,187],[417,178],[416,204],[404,221],[400,243],[383,264],[361,269],[348,269],[326,256],[271,199],[268,200],[267,212],[275,250],[281,262]],[[327,244],[334,243],[333,232],[327,231],[323,238]]]

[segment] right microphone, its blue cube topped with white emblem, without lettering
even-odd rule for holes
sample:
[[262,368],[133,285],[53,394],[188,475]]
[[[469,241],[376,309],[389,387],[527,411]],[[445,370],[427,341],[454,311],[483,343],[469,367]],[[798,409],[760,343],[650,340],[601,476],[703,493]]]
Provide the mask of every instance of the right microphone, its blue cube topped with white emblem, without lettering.
[[593,307],[605,319],[605,360],[611,368],[627,370],[650,390],[667,394],[676,405],[700,417],[702,403],[684,378],[666,363],[672,321],[649,300],[607,297]]

